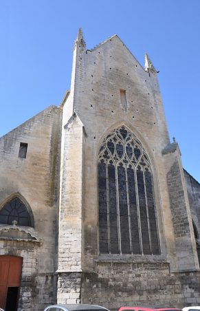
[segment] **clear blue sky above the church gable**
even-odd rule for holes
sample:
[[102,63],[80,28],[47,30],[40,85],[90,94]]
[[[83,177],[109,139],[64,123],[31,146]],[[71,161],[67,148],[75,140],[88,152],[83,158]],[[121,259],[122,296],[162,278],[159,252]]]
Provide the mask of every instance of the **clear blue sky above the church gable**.
[[0,0],[0,136],[60,104],[79,27],[88,49],[118,34],[159,70],[170,138],[200,182],[199,16],[199,0]]

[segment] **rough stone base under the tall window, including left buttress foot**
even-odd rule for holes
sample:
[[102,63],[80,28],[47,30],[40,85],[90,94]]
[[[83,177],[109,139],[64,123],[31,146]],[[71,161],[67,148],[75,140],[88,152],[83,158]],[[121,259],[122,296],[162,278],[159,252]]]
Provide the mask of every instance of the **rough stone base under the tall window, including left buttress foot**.
[[93,303],[111,310],[200,303],[200,272],[170,273],[168,263],[98,263],[95,270],[60,276],[58,303]]

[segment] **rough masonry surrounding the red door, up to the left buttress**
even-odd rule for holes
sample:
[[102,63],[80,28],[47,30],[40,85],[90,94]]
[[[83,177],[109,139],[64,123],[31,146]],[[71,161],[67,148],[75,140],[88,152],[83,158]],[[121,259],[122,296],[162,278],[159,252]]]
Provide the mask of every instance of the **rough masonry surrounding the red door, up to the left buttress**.
[[44,310],[47,305],[56,303],[57,276],[38,271],[40,248],[41,244],[36,242],[0,241],[0,256],[22,258],[19,311]]

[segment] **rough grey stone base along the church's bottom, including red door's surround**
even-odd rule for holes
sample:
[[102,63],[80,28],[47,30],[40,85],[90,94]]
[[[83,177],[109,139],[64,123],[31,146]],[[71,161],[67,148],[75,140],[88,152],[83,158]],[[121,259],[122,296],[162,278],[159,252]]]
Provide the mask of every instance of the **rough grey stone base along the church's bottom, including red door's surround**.
[[98,261],[93,273],[38,273],[38,245],[9,241],[2,244],[0,255],[23,258],[20,311],[44,310],[56,303],[56,292],[58,303],[93,303],[112,311],[124,305],[183,308],[200,304],[200,272],[170,273],[166,262]]

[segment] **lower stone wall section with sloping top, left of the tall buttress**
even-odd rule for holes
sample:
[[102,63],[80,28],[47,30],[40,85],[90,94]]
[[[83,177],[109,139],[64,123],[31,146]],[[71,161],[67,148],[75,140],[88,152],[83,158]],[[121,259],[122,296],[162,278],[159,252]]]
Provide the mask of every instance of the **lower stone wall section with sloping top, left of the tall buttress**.
[[17,195],[34,218],[34,228],[0,224],[0,255],[23,258],[19,310],[56,302],[60,113],[49,107],[0,138],[0,208]]

